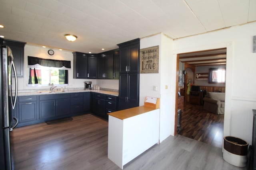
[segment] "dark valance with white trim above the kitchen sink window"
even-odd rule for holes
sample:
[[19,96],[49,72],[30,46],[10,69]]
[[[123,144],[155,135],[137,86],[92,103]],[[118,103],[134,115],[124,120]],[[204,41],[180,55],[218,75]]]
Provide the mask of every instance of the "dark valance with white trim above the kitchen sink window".
[[28,56],[28,67],[37,68],[38,64],[40,66],[45,66],[45,67],[54,67],[54,68],[61,68],[63,70],[71,70],[70,61],[42,59],[38,57]]

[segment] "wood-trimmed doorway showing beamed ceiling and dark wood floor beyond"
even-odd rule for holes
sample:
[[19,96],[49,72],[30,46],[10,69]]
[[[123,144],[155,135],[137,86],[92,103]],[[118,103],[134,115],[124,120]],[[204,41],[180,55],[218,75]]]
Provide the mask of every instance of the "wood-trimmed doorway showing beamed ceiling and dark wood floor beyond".
[[[182,64],[182,66],[180,66],[180,64]],[[184,96],[184,108],[181,116],[182,128],[180,131],[176,131],[176,133],[216,147],[222,147],[224,115],[218,115],[204,110],[203,100],[200,105],[191,104],[188,90],[188,84],[191,83],[192,85],[200,86],[200,90],[202,91],[225,92],[225,84],[209,84],[208,78],[204,77],[205,79],[203,80],[203,78],[196,76],[202,71],[208,74],[208,68],[210,67],[226,68],[226,48],[181,53],[177,55],[177,72],[182,68],[183,72],[186,70],[186,74],[183,75],[184,82],[182,87],[179,86],[180,75],[177,74],[176,78],[176,92],[177,94],[180,92],[180,94]],[[178,95],[176,96],[177,114],[179,108],[177,104]]]

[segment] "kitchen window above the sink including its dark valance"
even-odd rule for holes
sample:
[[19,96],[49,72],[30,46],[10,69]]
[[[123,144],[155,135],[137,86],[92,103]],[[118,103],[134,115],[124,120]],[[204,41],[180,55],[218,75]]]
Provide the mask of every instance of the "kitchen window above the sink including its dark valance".
[[68,70],[70,61],[41,59],[28,56],[29,80],[28,84],[60,85],[68,84]]

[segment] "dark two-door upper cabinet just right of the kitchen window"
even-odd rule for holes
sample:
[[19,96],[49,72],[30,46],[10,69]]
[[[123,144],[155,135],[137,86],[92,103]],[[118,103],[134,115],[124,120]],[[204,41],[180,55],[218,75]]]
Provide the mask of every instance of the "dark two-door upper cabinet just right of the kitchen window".
[[73,52],[73,78],[96,78],[97,55]]

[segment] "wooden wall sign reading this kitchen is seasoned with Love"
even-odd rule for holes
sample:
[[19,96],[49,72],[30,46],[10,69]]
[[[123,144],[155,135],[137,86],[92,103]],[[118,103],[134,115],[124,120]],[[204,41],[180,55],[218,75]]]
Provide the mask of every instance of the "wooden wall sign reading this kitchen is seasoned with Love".
[[159,45],[140,49],[140,73],[158,73]]

